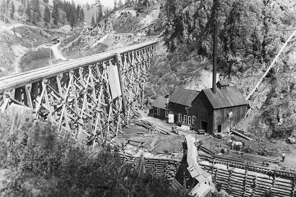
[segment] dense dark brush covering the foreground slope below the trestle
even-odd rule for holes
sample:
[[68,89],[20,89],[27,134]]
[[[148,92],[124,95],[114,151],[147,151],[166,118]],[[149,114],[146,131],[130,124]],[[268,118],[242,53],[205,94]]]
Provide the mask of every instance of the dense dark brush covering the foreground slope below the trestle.
[[186,196],[171,191],[163,176],[138,178],[131,164],[110,152],[92,151],[54,124],[23,120],[9,132],[9,117],[0,118],[0,169],[10,167],[0,196]]

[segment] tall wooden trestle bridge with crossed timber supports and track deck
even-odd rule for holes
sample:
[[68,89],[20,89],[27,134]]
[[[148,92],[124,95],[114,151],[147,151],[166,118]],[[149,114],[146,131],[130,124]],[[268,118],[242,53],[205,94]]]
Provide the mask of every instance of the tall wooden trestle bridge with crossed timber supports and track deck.
[[74,136],[84,132],[100,143],[122,132],[142,107],[157,42],[0,78],[0,111],[9,113],[12,103],[27,106],[37,119],[54,122]]

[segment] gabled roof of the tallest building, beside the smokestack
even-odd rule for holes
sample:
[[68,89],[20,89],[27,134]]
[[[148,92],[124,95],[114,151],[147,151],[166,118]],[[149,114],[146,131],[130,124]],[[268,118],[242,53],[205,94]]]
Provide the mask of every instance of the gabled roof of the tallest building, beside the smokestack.
[[228,86],[226,90],[222,91],[217,88],[216,94],[213,94],[212,89],[203,89],[202,91],[214,109],[247,104],[246,99],[236,86]]

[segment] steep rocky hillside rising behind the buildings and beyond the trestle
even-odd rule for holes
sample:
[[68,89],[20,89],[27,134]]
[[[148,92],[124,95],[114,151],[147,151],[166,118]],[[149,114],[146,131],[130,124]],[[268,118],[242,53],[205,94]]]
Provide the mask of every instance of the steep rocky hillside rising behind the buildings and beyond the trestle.
[[[142,1],[134,3],[113,12],[92,30],[74,34],[61,44],[63,55],[93,55],[161,34],[146,89],[151,102],[177,87],[211,87],[216,21],[218,73],[246,97],[295,29],[296,1],[291,0],[217,0],[215,5],[212,0],[149,2],[147,7]],[[251,113],[239,125],[261,139],[296,135],[295,41],[291,40],[249,100]]]

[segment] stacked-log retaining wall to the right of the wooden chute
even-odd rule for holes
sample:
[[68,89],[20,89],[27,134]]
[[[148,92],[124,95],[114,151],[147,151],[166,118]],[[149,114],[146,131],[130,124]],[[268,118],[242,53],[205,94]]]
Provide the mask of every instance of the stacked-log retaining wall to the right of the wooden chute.
[[212,174],[214,183],[221,183],[222,189],[231,191],[234,197],[265,196],[266,191],[274,197],[295,196],[294,178],[279,178],[209,162],[200,162],[200,166]]

